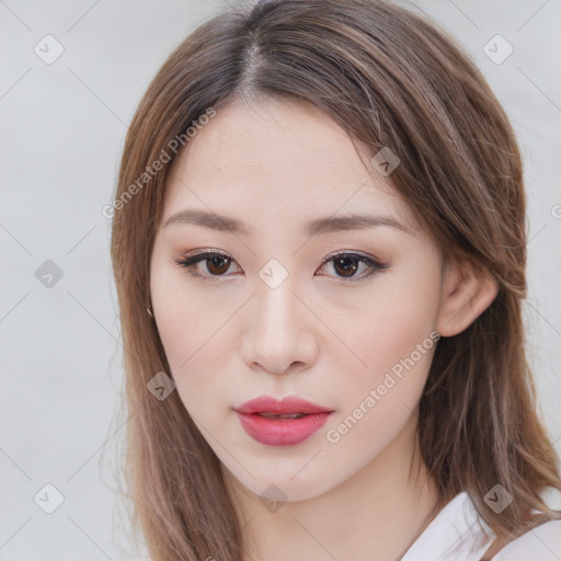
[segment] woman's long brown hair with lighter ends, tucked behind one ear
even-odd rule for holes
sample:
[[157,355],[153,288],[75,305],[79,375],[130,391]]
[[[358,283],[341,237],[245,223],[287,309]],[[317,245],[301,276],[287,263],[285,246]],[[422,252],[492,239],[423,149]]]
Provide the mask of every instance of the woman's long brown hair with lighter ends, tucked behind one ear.
[[[209,107],[260,98],[312,104],[369,156],[390,147],[401,163],[388,179],[443,254],[461,255],[499,284],[468,329],[440,339],[421,399],[421,451],[438,508],[467,491],[506,540],[560,518],[540,496],[561,491],[561,480],[525,357],[526,199],[503,108],[454,39],[405,9],[381,0],[261,1],[211,18],[171,54],[138,106],[121,162],[112,260],[131,417],[124,493],[151,559],[244,554],[218,458],[176,391],[159,401],[147,390],[156,373],[170,373],[147,307],[173,139],[184,141]],[[139,186],[163,152],[169,161]],[[514,497],[500,514],[483,501],[497,483]],[[533,508],[541,515],[530,516]]]

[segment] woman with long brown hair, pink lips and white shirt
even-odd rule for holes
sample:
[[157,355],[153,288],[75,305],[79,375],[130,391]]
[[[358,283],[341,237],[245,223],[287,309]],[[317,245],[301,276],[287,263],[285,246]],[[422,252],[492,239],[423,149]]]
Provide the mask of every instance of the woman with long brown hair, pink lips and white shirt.
[[203,24],[133,119],[112,257],[153,561],[561,554],[518,148],[424,20],[284,0]]

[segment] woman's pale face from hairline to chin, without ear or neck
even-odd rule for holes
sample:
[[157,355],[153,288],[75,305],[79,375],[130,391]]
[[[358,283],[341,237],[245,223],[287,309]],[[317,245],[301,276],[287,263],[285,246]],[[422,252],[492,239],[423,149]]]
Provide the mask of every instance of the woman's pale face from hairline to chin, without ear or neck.
[[[370,176],[341,128],[295,103],[220,107],[178,158],[151,260],[153,316],[168,374],[228,477],[256,495],[274,485],[310,499],[410,446],[398,436],[416,422],[443,267],[391,175]],[[219,255],[181,264],[205,252]],[[261,396],[330,413],[242,422],[237,410]]]

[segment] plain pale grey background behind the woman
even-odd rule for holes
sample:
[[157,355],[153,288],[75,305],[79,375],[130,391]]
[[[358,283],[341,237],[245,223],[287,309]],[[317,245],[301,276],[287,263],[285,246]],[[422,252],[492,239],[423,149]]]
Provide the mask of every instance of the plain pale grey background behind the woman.
[[[471,53],[518,136],[529,205],[528,352],[561,454],[561,1],[415,3]],[[113,492],[124,373],[111,224],[101,209],[150,79],[221,5],[0,0],[0,560],[139,559]],[[64,47],[50,65],[34,51],[47,56],[47,34]],[[483,51],[496,34],[514,48],[502,64]],[[47,260],[62,273],[51,287],[36,276],[53,266]],[[39,492],[39,504],[55,504],[47,483],[64,496],[53,514],[34,502]]]

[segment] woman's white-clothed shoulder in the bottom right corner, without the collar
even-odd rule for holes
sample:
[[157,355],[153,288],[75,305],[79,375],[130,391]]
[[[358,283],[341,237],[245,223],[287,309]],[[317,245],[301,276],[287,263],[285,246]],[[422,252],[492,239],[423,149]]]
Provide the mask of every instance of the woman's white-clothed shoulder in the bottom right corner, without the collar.
[[561,559],[561,520],[536,526],[504,546],[491,561],[559,561]]

